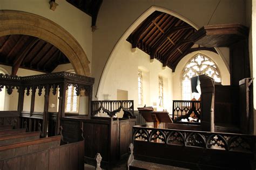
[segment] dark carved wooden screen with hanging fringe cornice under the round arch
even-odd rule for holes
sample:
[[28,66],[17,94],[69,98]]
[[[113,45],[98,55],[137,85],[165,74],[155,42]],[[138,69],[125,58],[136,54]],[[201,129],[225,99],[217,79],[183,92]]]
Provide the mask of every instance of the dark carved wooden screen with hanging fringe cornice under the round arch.
[[[76,94],[84,90],[92,99],[92,85],[94,78],[80,76],[69,72],[57,72],[40,74],[36,76],[18,77],[0,74],[0,91],[5,87],[8,94],[16,88],[18,90],[18,108],[15,111],[1,111],[0,125],[12,125],[15,128],[26,128],[28,131],[42,131],[42,137],[59,133],[60,117],[65,116],[66,89],[72,85],[76,88]],[[52,90],[51,90],[52,89]],[[49,112],[50,91],[53,95],[59,90],[58,112]],[[44,92],[43,112],[35,112],[35,97]],[[31,93],[30,111],[24,111],[24,96]],[[14,101],[12,101],[14,102]],[[57,101],[56,101],[57,102]],[[56,104],[57,105],[57,104]],[[89,113],[91,112],[89,107]]]

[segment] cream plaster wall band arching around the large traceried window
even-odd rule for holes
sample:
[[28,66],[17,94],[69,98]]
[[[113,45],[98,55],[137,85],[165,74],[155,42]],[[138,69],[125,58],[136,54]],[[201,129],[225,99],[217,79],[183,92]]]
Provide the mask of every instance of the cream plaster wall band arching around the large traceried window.
[[215,62],[217,64],[218,69],[220,71],[221,76],[221,84],[222,85],[230,85],[230,72],[228,71],[223,59],[214,52],[211,51],[196,51],[186,55],[183,59],[178,63],[175,72],[173,73],[173,100],[181,100],[181,76],[183,73],[183,69],[186,66],[187,62],[197,55],[197,53],[201,53]]

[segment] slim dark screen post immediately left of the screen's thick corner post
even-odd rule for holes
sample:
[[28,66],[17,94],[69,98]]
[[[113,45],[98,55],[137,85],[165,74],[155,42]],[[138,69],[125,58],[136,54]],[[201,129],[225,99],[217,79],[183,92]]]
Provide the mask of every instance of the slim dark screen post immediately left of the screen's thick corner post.
[[47,127],[48,127],[48,108],[49,108],[49,94],[50,94],[50,85],[47,84],[44,86],[45,88],[45,93],[44,93],[44,119],[43,119],[43,130],[42,130],[42,136],[46,137],[47,135]]

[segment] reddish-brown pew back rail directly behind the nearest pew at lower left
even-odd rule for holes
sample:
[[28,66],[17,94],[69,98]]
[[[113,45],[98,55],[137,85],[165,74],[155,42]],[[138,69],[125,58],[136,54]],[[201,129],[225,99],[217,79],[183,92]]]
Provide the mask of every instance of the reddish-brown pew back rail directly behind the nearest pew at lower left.
[[61,139],[60,135],[57,135],[55,137],[41,138],[41,139],[37,139],[37,140],[18,142],[15,144],[2,145],[2,146],[0,146],[0,151],[4,151],[7,149],[13,149],[13,148],[17,148],[17,147],[29,146],[29,145],[42,144],[45,142],[60,141],[60,139]]

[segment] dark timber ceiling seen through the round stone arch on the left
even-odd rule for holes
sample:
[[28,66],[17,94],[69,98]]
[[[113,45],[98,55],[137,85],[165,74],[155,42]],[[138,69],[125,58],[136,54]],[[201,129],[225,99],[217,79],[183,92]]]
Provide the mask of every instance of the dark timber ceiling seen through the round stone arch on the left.
[[50,73],[59,64],[70,63],[57,47],[45,40],[28,35],[0,37],[0,64],[12,66],[12,74],[18,68]]

